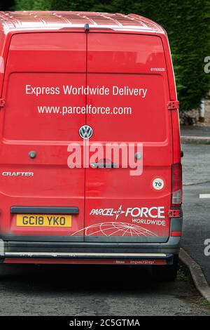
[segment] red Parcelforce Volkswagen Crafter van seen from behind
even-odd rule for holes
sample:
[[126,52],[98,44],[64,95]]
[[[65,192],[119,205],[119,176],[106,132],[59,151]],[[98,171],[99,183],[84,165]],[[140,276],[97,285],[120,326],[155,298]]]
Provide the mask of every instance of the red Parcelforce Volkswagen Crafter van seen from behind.
[[134,14],[1,12],[0,56],[1,261],[153,265],[174,279],[181,148],[165,30]]

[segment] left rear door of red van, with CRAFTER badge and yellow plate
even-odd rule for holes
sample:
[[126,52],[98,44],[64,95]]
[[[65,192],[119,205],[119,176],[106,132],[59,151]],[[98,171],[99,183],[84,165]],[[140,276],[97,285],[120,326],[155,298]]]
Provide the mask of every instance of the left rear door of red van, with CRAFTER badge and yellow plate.
[[86,100],[64,95],[69,84],[86,84],[85,33],[13,35],[0,141],[0,230],[10,238],[83,240],[85,169],[69,169],[67,146],[82,144],[85,114],[66,118],[62,111]]

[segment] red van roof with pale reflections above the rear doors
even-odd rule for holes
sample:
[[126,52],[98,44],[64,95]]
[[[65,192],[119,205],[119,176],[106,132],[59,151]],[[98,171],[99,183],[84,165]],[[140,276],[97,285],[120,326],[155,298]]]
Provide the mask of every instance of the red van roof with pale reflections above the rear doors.
[[136,14],[90,13],[78,11],[1,11],[0,32],[14,30],[62,29],[84,27],[88,23],[95,28],[125,31],[159,32],[165,30],[148,18]]

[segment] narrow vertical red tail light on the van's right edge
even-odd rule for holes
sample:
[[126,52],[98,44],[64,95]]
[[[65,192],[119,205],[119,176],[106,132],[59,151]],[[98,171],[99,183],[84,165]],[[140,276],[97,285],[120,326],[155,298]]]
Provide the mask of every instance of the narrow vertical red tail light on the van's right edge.
[[182,203],[182,170],[181,164],[172,165],[172,207],[180,207]]

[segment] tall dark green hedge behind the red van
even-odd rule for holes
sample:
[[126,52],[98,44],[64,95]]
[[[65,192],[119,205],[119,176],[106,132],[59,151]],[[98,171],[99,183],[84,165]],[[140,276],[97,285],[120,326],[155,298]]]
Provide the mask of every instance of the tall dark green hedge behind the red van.
[[210,74],[210,0],[16,0],[17,10],[108,11],[138,13],[168,32],[181,110],[191,110],[207,97]]

